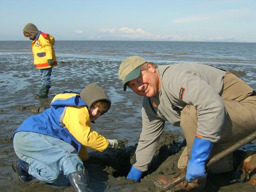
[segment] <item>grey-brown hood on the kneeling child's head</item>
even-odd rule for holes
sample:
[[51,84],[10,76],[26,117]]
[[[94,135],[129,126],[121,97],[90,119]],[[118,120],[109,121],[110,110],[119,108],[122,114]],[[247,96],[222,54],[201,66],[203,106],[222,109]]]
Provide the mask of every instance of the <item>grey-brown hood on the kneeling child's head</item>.
[[99,100],[107,101],[109,103],[109,109],[110,109],[111,101],[108,95],[101,87],[99,87],[95,83],[90,83],[85,88],[83,88],[83,90],[80,93],[80,97],[84,102],[86,102],[89,109],[93,105],[93,103]]

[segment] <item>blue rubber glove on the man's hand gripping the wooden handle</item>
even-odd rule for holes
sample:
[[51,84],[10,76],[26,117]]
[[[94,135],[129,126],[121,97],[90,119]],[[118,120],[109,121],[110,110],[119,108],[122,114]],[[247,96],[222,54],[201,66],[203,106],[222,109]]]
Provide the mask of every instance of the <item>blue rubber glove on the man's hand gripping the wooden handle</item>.
[[186,181],[191,182],[198,177],[206,177],[205,162],[210,155],[214,143],[196,137],[192,146],[191,156],[187,163]]

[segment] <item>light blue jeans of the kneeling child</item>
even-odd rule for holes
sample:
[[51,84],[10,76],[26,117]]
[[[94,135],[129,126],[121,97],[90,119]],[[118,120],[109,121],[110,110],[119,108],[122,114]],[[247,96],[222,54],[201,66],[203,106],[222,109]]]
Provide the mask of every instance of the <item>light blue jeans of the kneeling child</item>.
[[17,132],[13,147],[16,155],[29,163],[29,174],[40,181],[66,185],[68,174],[84,169],[72,145],[48,135]]

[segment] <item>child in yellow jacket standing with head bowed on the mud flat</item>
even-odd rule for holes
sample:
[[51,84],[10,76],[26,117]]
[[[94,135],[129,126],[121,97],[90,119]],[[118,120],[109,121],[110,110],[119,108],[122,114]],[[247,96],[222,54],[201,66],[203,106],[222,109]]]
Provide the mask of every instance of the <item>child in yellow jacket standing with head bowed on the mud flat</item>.
[[53,45],[55,40],[53,36],[42,33],[34,24],[27,24],[23,29],[25,37],[29,37],[32,41],[32,52],[34,57],[34,65],[36,69],[40,69],[41,90],[37,98],[46,98],[51,88],[52,67],[57,66],[57,60]]

